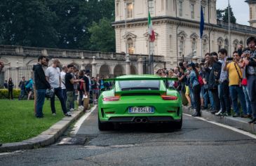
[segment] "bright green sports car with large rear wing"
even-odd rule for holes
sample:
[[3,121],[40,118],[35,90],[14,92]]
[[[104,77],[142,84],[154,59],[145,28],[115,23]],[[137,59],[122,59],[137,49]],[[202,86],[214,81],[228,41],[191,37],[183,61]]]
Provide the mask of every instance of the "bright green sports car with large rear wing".
[[126,75],[105,82],[114,82],[112,90],[98,99],[99,130],[111,130],[113,123],[167,123],[182,127],[182,100],[175,88],[166,88],[168,81],[154,75]]

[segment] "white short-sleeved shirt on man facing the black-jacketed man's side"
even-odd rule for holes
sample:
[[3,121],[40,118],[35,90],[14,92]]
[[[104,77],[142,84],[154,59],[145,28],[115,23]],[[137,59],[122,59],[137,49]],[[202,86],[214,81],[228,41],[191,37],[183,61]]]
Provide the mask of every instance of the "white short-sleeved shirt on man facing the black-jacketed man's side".
[[52,88],[60,87],[60,69],[58,67],[48,67],[46,76],[48,76],[48,82]]

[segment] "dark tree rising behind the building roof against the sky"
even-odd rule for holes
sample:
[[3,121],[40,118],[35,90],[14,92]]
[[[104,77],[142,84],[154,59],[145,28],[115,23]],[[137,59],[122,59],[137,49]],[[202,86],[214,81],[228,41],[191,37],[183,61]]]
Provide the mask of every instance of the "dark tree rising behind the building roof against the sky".
[[217,9],[217,19],[222,20],[223,22],[229,23],[229,13],[230,13],[230,22],[233,24],[236,24],[236,18],[234,16],[231,6],[225,8],[224,10]]

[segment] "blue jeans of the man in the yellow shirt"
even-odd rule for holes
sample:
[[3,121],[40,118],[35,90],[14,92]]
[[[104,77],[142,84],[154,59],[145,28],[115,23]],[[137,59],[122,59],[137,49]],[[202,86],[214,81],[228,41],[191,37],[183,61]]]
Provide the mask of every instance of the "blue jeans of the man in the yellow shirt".
[[245,103],[245,95],[243,94],[243,88],[240,87],[239,85],[231,85],[229,86],[229,90],[231,94],[232,106],[233,106],[234,112],[240,114],[240,111],[238,108],[238,102],[237,102],[237,99],[239,97],[240,104],[243,109],[243,113],[246,115],[247,109],[246,109],[246,103]]

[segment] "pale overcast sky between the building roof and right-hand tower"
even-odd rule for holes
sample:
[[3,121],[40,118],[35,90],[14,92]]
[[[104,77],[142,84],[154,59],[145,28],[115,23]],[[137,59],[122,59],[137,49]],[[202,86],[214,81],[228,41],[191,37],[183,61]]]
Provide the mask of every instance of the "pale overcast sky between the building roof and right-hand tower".
[[[236,18],[236,23],[249,25],[249,6],[245,0],[229,0],[230,6]],[[228,0],[217,0],[217,9],[224,9],[228,6]]]

